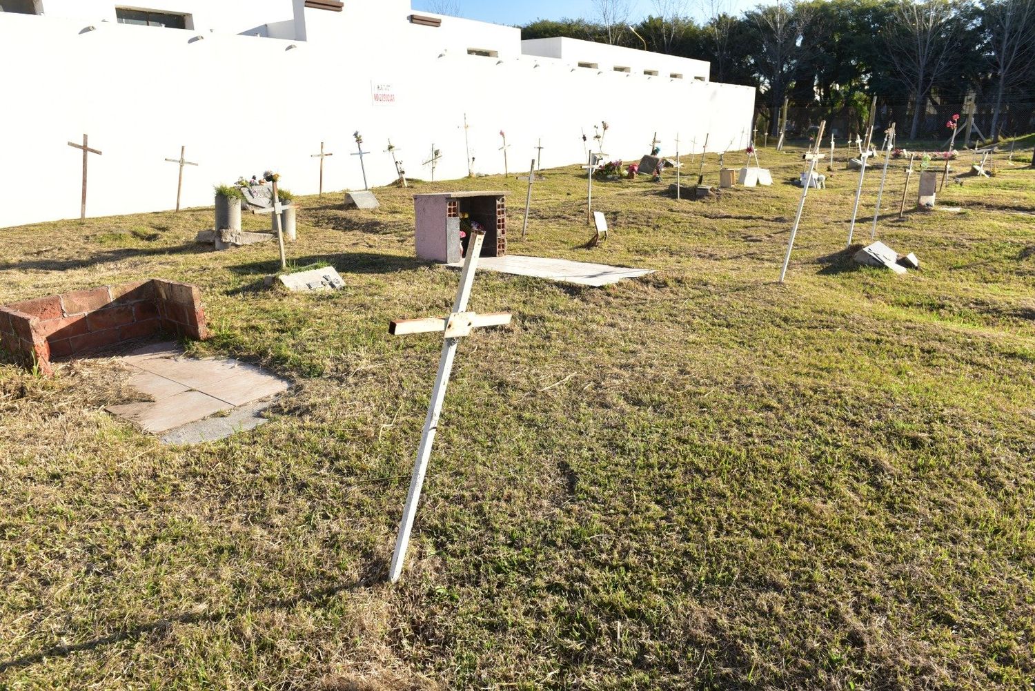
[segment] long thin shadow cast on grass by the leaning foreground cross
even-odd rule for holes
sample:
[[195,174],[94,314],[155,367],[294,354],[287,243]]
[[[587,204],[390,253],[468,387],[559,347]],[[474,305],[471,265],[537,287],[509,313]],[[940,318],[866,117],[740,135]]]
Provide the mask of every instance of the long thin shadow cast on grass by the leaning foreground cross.
[[366,567],[363,574],[358,579],[351,583],[331,585],[319,591],[304,593],[293,598],[269,600],[267,602],[249,604],[228,611],[200,613],[181,612],[179,614],[173,614],[154,622],[139,624],[107,636],[83,641],[82,643],[72,643],[71,645],[54,645],[53,647],[49,647],[33,655],[26,655],[21,658],[5,660],[0,662],[0,673],[16,667],[29,667],[43,662],[49,658],[68,657],[69,655],[73,655],[76,653],[94,651],[98,647],[103,647],[105,645],[113,645],[127,640],[137,641],[150,634],[165,635],[172,631],[173,626],[176,624],[218,624],[220,622],[236,618],[247,612],[294,609],[299,605],[327,605],[332,598],[335,598],[343,593],[369,587],[383,581],[387,573],[387,562],[384,559],[376,559]]

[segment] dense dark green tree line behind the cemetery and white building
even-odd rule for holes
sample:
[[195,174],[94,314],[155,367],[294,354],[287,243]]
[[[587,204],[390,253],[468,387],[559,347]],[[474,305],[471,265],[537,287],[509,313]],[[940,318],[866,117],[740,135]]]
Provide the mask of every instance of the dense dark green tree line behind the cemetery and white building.
[[630,25],[629,0],[593,0],[594,18],[539,20],[522,37],[645,41],[708,60],[712,81],[758,87],[760,126],[773,135],[785,98],[792,133],[824,118],[858,132],[871,94],[878,121],[909,139],[947,136],[947,118],[971,93],[985,138],[1032,129],[1035,0],[777,0],[739,15],[723,0],[703,2],[705,21],[686,0],[653,0]]

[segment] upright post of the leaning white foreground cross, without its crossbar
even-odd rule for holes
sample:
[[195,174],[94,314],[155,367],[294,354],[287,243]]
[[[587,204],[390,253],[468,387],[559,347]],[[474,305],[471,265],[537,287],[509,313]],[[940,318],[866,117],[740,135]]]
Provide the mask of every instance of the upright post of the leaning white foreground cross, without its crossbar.
[[[460,288],[456,300],[453,303],[453,314],[467,310],[471,297],[471,286],[474,283],[474,271],[481,254],[481,243],[484,234],[474,233],[467,248],[467,259],[464,261],[464,271],[460,278]],[[439,428],[439,416],[442,414],[442,403],[446,398],[446,387],[449,385],[449,375],[452,372],[453,357],[456,354],[457,339],[447,338],[442,345],[442,358],[439,361],[439,373],[435,378],[435,388],[432,390],[432,400],[427,405],[427,418],[424,419],[424,431],[420,437],[420,448],[417,450],[417,460],[410,479],[410,492],[406,497],[406,509],[403,511],[403,521],[398,526],[398,537],[395,540],[395,551],[391,557],[389,579],[392,583],[403,575],[403,563],[410,546],[410,532],[413,530],[413,519],[417,515],[417,502],[420,501],[420,490],[427,473],[427,460],[432,456],[432,444],[435,443],[435,433]]]

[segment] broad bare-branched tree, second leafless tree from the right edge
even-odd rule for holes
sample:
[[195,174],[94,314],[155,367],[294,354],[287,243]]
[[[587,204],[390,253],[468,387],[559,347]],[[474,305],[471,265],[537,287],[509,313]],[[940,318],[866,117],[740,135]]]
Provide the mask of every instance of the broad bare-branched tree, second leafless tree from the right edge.
[[899,0],[882,32],[893,77],[913,97],[910,139],[916,139],[931,87],[956,61],[963,26],[956,0]]

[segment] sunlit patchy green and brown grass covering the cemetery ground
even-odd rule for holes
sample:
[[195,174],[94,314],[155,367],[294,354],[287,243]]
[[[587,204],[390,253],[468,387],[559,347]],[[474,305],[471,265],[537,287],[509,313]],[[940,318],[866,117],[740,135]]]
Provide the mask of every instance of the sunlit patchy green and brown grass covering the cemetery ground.
[[[905,277],[852,265],[839,164],[778,285],[800,153],[719,201],[597,183],[594,249],[578,167],[546,172],[526,241],[514,179],[302,198],[289,257],[336,267],[330,295],[264,288],[274,246],[195,244],[210,208],[0,230],[0,304],[194,283],[193,352],[296,384],[254,432],[162,447],[103,411],[132,396],[110,361],[0,365],[0,688],[1031,689],[1029,156],[904,221],[893,162],[879,237],[919,257]],[[513,324],[461,343],[390,586],[441,340],[387,325],[448,312],[411,196],[455,189],[510,191],[510,254],[657,273],[479,272],[472,309]]]

